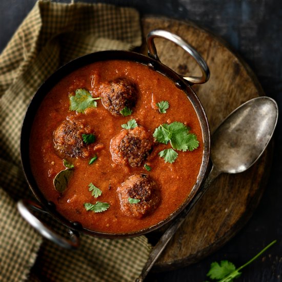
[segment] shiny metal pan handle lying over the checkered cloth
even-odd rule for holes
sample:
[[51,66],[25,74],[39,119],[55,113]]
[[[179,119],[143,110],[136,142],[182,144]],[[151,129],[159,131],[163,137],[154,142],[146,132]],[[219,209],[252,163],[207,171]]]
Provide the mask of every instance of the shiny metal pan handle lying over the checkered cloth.
[[31,200],[19,200],[17,203],[19,213],[35,228],[42,236],[53,241],[55,244],[66,249],[76,249],[79,246],[79,237],[75,231],[69,230],[70,239],[65,239],[59,236],[54,231],[46,227],[30,210],[47,213],[42,207]]

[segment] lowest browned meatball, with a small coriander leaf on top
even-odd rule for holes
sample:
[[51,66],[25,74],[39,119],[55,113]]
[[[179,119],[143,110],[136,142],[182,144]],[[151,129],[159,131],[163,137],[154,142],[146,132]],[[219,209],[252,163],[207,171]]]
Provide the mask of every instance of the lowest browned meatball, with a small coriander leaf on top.
[[[142,218],[152,213],[160,203],[160,191],[147,174],[132,175],[117,188],[120,210],[127,216]],[[129,198],[140,202],[130,204]]]

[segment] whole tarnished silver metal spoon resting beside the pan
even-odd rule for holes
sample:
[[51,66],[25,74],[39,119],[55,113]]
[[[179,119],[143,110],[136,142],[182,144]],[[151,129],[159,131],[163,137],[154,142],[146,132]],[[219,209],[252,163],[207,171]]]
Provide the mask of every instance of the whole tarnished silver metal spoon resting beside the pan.
[[269,97],[257,97],[239,106],[218,126],[211,137],[210,157],[213,166],[203,187],[160,237],[136,282],[145,279],[169,240],[208,190],[211,182],[220,173],[243,172],[256,162],[273,135],[277,118],[276,102]]

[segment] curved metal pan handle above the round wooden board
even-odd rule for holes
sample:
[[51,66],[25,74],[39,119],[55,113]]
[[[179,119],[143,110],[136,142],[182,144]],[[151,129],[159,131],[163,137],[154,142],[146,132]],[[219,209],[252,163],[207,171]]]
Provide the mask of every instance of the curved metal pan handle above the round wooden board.
[[195,59],[198,66],[200,67],[202,76],[183,76],[182,75],[182,77],[185,80],[187,80],[188,82],[192,84],[203,84],[208,81],[210,77],[210,70],[209,70],[207,63],[202,58],[202,56],[200,56],[200,54],[193,47],[191,47],[187,42],[185,42],[181,37],[169,31],[162,30],[162,29],[155,29],[148,33],[147,46],[148,46],[148,55],[150,57],[160,61],[158,58],[157,50],[156,50],[155,43],[154,43],[154,38],[156,37],[168,39],[169,41],[174,42],[176,45],[180,46],[185,51],[187,51]]

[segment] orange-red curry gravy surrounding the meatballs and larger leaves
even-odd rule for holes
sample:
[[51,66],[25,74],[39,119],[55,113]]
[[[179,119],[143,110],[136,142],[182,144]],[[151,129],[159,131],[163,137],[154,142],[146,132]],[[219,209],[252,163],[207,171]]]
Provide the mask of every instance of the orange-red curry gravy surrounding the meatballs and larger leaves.
[[[98,79],[97,79],[98,77]],[[130,79],[138,89],[138,97],[133,112],[129,116],[114,116],[97,100],[96,108],[88,108],[85,113],[70,111],[69,95],[75,89],[84,88],[95,96],[99,82],[115,78]],[[159,113],[156,103],[167,100],[167,113]],[[97,159],[89,165],[90,158],[76,157],[71,160],[74,172],[63,193],[54,189],[55,175],[64,170],[63,158],[54,149],[53,133],[58,124],[67,117],[84,119],[94,129]],[[158,153],[171,146],[155,143],[145,163],[151,167],[130,167],[115,164],[110,153],[110,140],[122,129],[129,119],[151,134],[161,124],[182,122],[195,133],[199,147],[194,151],[177,151],[175,162],[165,163]],[[54,202],[57,211],[71,221],[79,221],[83,227],[105,233],[127,233],[156,225],[166,219],[182,205],[193,186],[202,164],[203,139],[197,114],[184,91],[174,82],[149,67],[131,61],[97,62],[80,68],[64,77],[44,98],[36,113],[30,136],[31,169],[39,189],[44,196]],[[138,219],[120,211],[117,188],[134,174],[149,174],[160,189],[160,204],[151,214]],[[93,183],[102,190],[97,199],[89,192]],[[84,203],[99,200],[110,204],[108,210],[100,213],[86,211]]]

